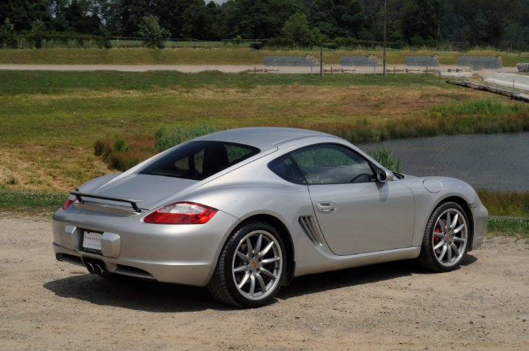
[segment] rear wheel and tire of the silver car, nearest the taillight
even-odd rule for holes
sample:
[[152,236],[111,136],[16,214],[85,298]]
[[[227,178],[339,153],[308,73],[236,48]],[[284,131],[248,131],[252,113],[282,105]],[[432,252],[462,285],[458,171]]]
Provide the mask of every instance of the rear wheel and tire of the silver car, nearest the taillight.
[[286,262],[285,246],[274,227],[264,222],[246,223],[235,229],[224,245],[208,290],[228,305],[266,305],[281,288]]

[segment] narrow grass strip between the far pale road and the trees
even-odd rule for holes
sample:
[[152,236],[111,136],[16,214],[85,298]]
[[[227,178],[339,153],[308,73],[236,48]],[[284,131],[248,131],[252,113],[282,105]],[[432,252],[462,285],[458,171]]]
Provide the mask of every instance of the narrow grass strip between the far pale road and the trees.
[[[119,65],[262,65],[265,56],[306,56],[319,61],[319,50],[250,50],[249,48],[146,48],[114,49],[46,49],[46,50],[0,50],[0,63],[48,63],[48,64],[119,64]],[[382,60],[381,50],[328,50],[323,52],[326,65],[338,65],[341,56],[368,56]],[[437,55],[441,65],[457,65],[459,56],[499,56],[503,66],[514,67],[528,60],[526,54],[515,54],[491,50],[468,52],[446,52],[431,50],[388,50],[388,66],[404,63],[406,56]]]

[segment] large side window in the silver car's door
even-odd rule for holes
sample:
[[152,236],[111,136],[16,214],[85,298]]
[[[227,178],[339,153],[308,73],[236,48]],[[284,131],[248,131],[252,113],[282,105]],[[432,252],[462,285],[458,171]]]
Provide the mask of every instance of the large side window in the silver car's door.
[[366,159],[335,144],[312,146],[292,152],[292,159],[308,184],[364,183],[375,181]]

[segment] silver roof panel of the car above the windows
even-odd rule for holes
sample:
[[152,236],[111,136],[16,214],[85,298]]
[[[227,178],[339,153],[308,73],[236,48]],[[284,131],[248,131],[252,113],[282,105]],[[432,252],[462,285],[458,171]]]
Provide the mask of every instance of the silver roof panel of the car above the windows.
[[281,143],[308,137],[330,137],[330,134],[298,128],[254,127],[222,130],[194,139],[196,141],[226,141],[267,150]]

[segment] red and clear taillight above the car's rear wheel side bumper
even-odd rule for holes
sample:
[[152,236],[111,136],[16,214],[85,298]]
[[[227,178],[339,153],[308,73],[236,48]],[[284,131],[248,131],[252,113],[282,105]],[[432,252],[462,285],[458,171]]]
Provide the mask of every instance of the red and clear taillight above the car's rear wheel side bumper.
[[200,203],[177,202],[159,208],[143,221],[159,224],[203,224],[208,223],[218,211]]

